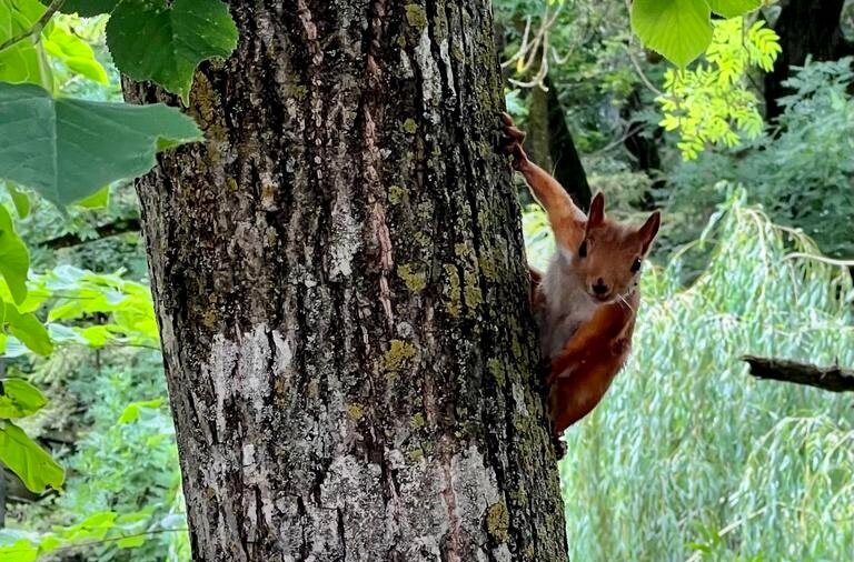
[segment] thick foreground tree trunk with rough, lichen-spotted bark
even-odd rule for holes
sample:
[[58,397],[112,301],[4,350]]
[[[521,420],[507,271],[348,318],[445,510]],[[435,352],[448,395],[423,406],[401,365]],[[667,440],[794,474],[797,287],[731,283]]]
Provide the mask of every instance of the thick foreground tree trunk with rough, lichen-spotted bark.
[[231,11],[137,184],[196,560],[565,560],[489,3]]

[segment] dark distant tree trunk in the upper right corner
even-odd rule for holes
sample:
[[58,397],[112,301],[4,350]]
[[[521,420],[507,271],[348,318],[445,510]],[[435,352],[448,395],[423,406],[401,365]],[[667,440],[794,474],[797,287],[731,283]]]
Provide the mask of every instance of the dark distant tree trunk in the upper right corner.
[[774,70],[765,74],[766,118],[782,112],[777,100],[788,93],[783,86],[791,76],[790,67],[801,66],[807,54],[813,60],[836,60],[854,54],[854,46],[845,41],[840,16],[845,0],[788,0],[781,2],[782,11],[774,23],[783,52]]

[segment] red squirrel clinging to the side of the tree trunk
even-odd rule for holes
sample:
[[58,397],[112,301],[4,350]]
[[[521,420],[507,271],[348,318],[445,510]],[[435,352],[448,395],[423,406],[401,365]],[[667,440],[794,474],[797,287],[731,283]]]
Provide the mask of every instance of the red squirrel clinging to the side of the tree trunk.
[[530,268],[532,307],[549,368],[549,412],[556,435],[599,403],[623,368],[637,314],[640,264],[658,232],[661,214],[632,228],[605,217],[597,193],[585,215],[564,188],[528,160],[525,133],[503,114],[514,169],[525,175],[546,210],[556,252],[545,273]]

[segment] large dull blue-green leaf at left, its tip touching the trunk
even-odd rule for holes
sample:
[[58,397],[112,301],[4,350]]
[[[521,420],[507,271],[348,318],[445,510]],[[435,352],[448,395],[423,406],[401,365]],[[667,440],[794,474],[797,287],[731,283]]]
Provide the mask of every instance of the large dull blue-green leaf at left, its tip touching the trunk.
[[0,83],[0,177],[60,205],[148,172],[159,147],[201,139],[190,118],[160,103],[53,99]]

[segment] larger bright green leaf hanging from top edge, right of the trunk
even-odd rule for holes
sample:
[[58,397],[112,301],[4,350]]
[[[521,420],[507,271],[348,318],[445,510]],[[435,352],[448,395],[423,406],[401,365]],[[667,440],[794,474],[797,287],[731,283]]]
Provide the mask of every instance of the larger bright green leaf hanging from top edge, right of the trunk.
[[646,47],[685,67],[712,41],[706,0],[635,0],[632,28]]

